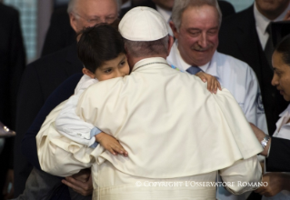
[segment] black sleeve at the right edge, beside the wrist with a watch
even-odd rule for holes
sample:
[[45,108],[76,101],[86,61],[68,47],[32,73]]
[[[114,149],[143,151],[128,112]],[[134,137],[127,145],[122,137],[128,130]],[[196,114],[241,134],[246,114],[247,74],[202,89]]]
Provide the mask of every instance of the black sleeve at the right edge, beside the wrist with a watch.
[[270,154],[266,160],[267,172],[290,172],[290,141],[272,137]]

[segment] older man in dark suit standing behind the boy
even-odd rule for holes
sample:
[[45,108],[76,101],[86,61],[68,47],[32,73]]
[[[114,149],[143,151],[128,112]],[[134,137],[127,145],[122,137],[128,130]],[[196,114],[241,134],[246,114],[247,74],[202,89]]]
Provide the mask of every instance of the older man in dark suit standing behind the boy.
[[[116,2],[117,0],[71,1],[70,24],[75,33],[85,26],[114,22],[118,13]],[[45,104],[46,98],[66,78],[81,72],[82,68],[83,65],[76,54],[76,43],[27,65],[17,99],[15,196],[24,192],[25,181],[32,170],[32,165],[21,153],[21,142],[26,131],[32,125],[42,105]]]

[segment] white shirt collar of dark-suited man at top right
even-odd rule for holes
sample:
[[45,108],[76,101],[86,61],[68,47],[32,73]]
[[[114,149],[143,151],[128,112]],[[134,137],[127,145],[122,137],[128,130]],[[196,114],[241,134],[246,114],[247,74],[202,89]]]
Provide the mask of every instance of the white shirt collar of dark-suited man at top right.
[[[273,20],[273,22],[282,21],[289,9],[290,9],[290,4],[287,6],[285,11],[281,15],[279,15],[277,18],[275,18],[275,20]],[[255,16],[255,25],[261,30],[262,33],[265,33],[266,28],[271,22],[271,20],[265,17],[265,15],[262,15],[258,11],[256,7],[256,3],[254,4],[254,16]]]

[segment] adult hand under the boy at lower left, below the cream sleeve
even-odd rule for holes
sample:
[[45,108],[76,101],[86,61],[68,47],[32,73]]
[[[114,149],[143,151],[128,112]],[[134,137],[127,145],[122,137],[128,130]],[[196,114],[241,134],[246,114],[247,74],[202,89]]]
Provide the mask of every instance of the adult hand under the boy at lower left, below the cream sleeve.
[[67,176],[62,182],[80,195],[93,194],[91,169],[83,169],[75,175]]

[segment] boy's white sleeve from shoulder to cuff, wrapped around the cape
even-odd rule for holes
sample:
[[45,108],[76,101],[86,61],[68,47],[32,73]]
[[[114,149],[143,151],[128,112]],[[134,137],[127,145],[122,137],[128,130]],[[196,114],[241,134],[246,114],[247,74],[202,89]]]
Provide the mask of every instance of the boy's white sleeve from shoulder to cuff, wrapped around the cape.
[[75,95],[72,95],[68,99],[55,120],[55,128],[61,135],[64,135],[76,143],[87,146],[95,144],[95,136],[91,136],[90,133],[90,130],[95,128],[95,126],[80,119],[80,117],[75,114],[75,108],[80,95],[83,94],[85,89],[97,82],[98,80],[88,75],[83,75],[75,87]]

